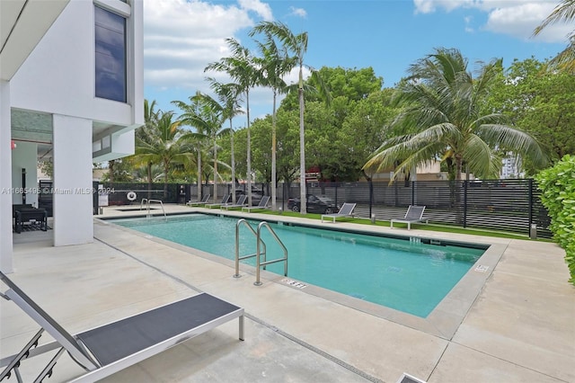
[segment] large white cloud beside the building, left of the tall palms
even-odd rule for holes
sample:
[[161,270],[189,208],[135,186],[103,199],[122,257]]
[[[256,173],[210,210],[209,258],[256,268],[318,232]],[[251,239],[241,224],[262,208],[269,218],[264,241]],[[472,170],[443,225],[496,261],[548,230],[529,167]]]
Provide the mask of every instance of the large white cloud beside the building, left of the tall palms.
[[206,91],[204,67],[229,55],[225,39],[257,21],[272,19],[269,4],[260,0],[239,0],[229,5],[198,0],[146,0],[145,84]]

